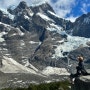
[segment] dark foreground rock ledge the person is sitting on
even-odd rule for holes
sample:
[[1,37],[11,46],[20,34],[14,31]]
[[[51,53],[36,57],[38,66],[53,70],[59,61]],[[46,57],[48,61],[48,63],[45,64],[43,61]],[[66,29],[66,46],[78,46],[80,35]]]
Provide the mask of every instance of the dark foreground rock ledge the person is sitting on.
[[71,90],[90,90],[90,75],[76,78]]

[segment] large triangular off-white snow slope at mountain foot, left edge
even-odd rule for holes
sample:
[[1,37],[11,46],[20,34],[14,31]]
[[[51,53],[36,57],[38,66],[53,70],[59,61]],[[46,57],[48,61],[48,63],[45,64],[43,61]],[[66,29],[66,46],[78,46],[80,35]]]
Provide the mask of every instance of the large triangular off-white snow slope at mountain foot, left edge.
[[12,58],[3,56],[2,61],[3,61],[2,62],[3,67],[0,68],[0,70],[4,73],[33,73],[33,74],[36,74],[34,70],[19,64]]

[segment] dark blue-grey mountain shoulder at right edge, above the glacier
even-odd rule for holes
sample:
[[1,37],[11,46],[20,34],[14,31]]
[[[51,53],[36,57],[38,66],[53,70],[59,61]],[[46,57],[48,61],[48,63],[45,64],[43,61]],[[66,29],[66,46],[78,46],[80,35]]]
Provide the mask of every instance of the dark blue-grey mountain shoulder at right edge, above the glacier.
[[73,35],[90,38],[90,13],[83,14],[76,19],[73,27]]

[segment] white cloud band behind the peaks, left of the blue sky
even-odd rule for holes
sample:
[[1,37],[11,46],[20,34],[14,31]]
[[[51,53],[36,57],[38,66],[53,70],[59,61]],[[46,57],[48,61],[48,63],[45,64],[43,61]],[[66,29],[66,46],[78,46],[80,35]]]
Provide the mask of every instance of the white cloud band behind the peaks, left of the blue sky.
[[[0,0],[0,8],[7,8],[10,5],[18,5],[22,0]],[[66,17],[72,10],[72,7],[75,4],[75,0],[56,0],[53,3],[53,0],[23,0],[26,1],[28,5],[48,2],[55,10],[55,12],[62,18]]]

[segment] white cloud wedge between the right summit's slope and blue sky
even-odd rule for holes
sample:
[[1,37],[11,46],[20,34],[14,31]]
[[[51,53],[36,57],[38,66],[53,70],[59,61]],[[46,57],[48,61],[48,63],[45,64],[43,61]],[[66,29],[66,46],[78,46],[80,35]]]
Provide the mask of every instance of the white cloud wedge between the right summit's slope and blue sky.
[[62,18],[66,17],[75,5],[75,0],[57,0],[56,3],[50,2],[55,12]]

